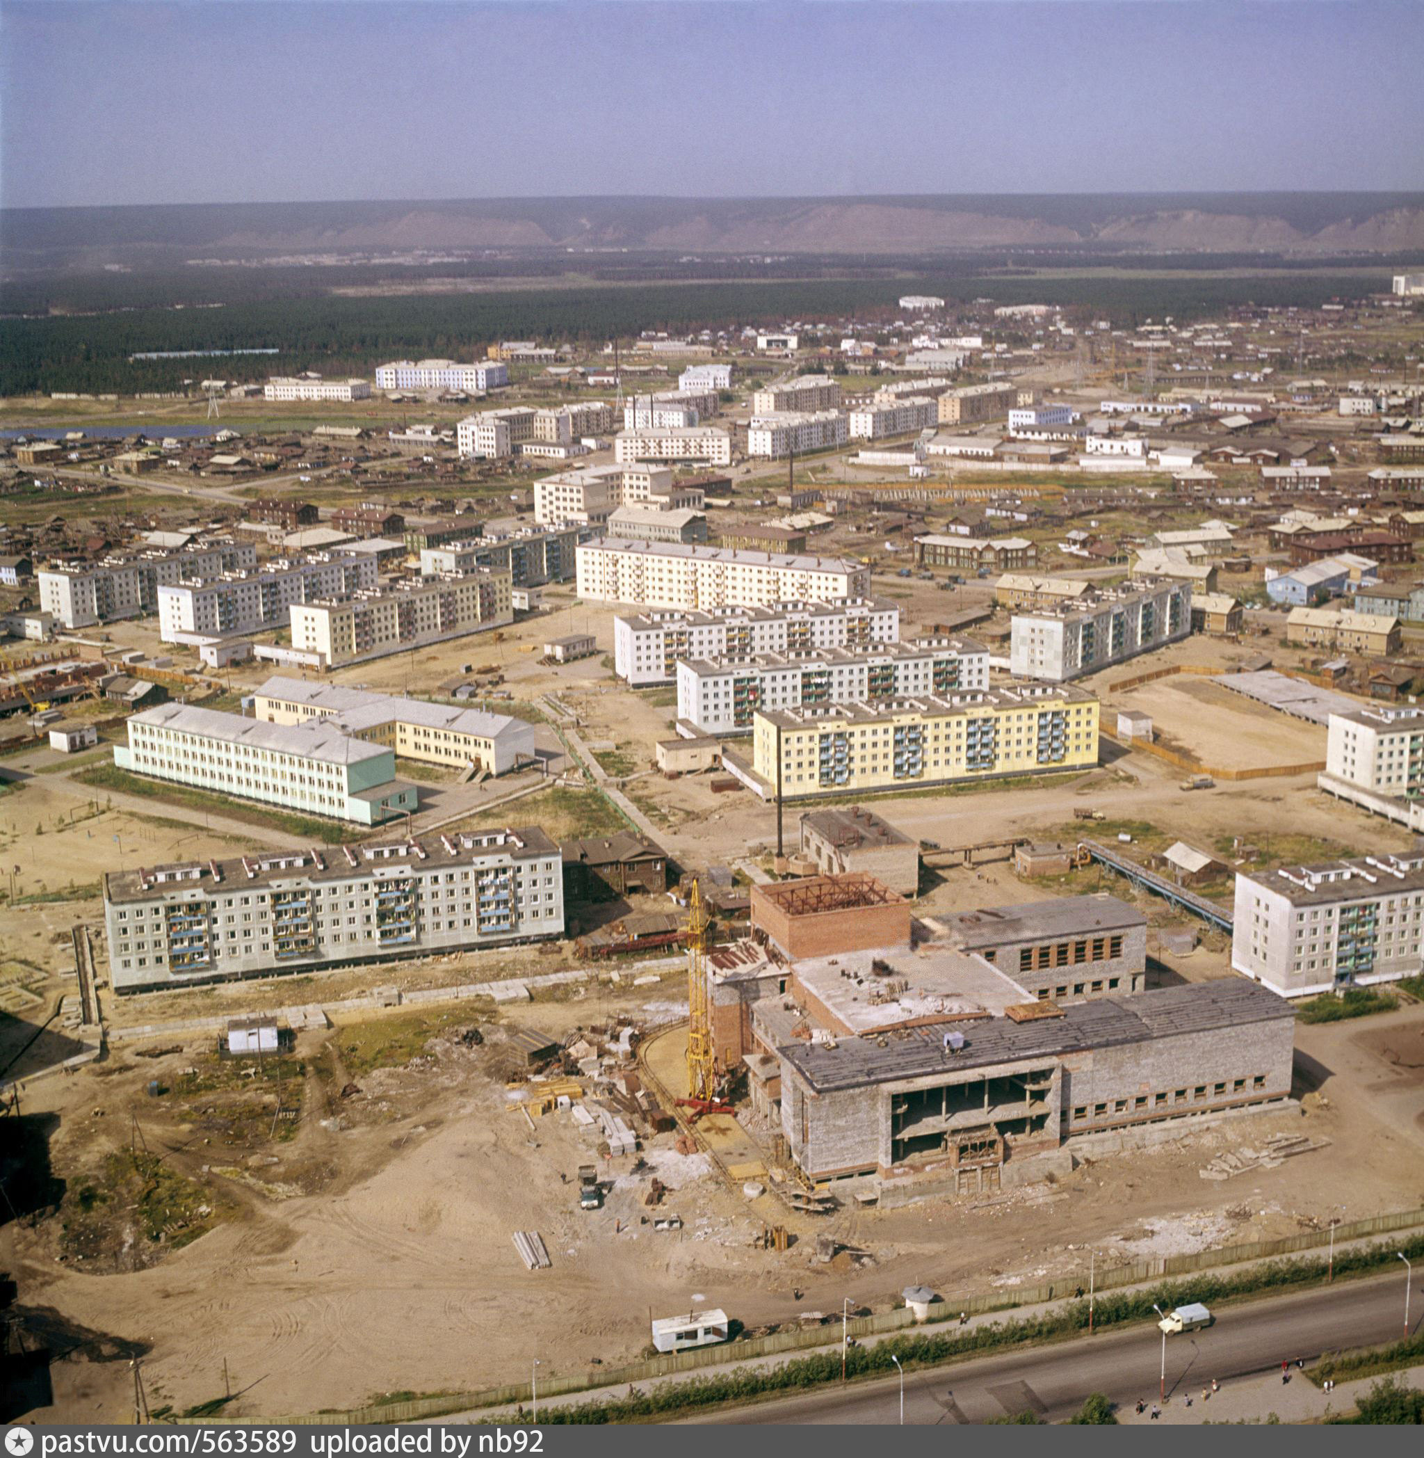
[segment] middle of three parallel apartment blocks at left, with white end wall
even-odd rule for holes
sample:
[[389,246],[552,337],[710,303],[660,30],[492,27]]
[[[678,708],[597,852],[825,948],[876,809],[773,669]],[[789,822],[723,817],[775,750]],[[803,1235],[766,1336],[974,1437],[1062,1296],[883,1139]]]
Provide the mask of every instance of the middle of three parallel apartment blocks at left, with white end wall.
[[313,555],[159,588],[159,637],[195,643],[286,627],[293,604],[347,596],[376,586],[372,555]]

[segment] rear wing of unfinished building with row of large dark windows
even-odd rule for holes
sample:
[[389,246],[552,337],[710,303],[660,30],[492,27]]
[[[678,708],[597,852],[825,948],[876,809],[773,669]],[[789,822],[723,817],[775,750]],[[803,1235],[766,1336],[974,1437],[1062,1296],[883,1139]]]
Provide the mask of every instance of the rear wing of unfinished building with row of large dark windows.
[[946,940],[993,962],[1039,1002],[1147,987],[1147,917],[1106,892],[940,914]]

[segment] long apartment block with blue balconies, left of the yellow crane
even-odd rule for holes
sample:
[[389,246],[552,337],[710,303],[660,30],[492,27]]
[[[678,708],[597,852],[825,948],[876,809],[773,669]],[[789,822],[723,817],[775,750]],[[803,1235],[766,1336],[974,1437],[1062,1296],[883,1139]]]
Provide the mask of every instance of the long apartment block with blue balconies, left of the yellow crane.
[[536,827],[109,872],[120,994],[563,936],[558,847]]

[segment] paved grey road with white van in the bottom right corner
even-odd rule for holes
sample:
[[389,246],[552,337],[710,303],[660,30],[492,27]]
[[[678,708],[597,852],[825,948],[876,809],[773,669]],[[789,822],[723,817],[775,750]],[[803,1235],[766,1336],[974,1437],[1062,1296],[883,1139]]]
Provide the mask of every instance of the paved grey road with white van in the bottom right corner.
[[[1167,1397],[1188,1392],[1200,1401],[1213,1378],[1267,1372],[1283,1359],[1307,1362],[1325,1349],[1369,1346],[1404,1336],[1404,1266],[1399,1274],[1342,1282],[1338,1286],[1227,1306],[1207,1331],[1167,1337]],[[1420,1324],[1424,1293],[1415,1292]],[[1081,1337],[1051,1347],[979,1357],[905,1378],[907,1423],[982,1423],[1032,1408],[1058,1422],[1074,1413],[1089,1392],[1106,1392],[1131,1407],[1153,1401],[1162,1360],[1162,1337],[1153,1325]],[[886,1359],[889,1366],[889,1359]],[[1293,1369],[1294,1371],[1294,1369]],[[1293,1382],[1304,1381],[1296,1373]],[[899,1379],[856,1384],[844,1391],[819,1389],[803,1397],[695,1419],[704,1423],[896,1423]]]

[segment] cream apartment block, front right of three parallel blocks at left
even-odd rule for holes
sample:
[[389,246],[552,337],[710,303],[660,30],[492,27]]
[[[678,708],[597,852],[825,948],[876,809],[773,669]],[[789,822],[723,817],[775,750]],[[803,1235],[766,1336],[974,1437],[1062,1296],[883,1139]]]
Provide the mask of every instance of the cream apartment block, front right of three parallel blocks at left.
[[293,649],[337,668],[504,627],[515,621],[513,582],[509,572],[477,567],[294,602],[289,611]]

